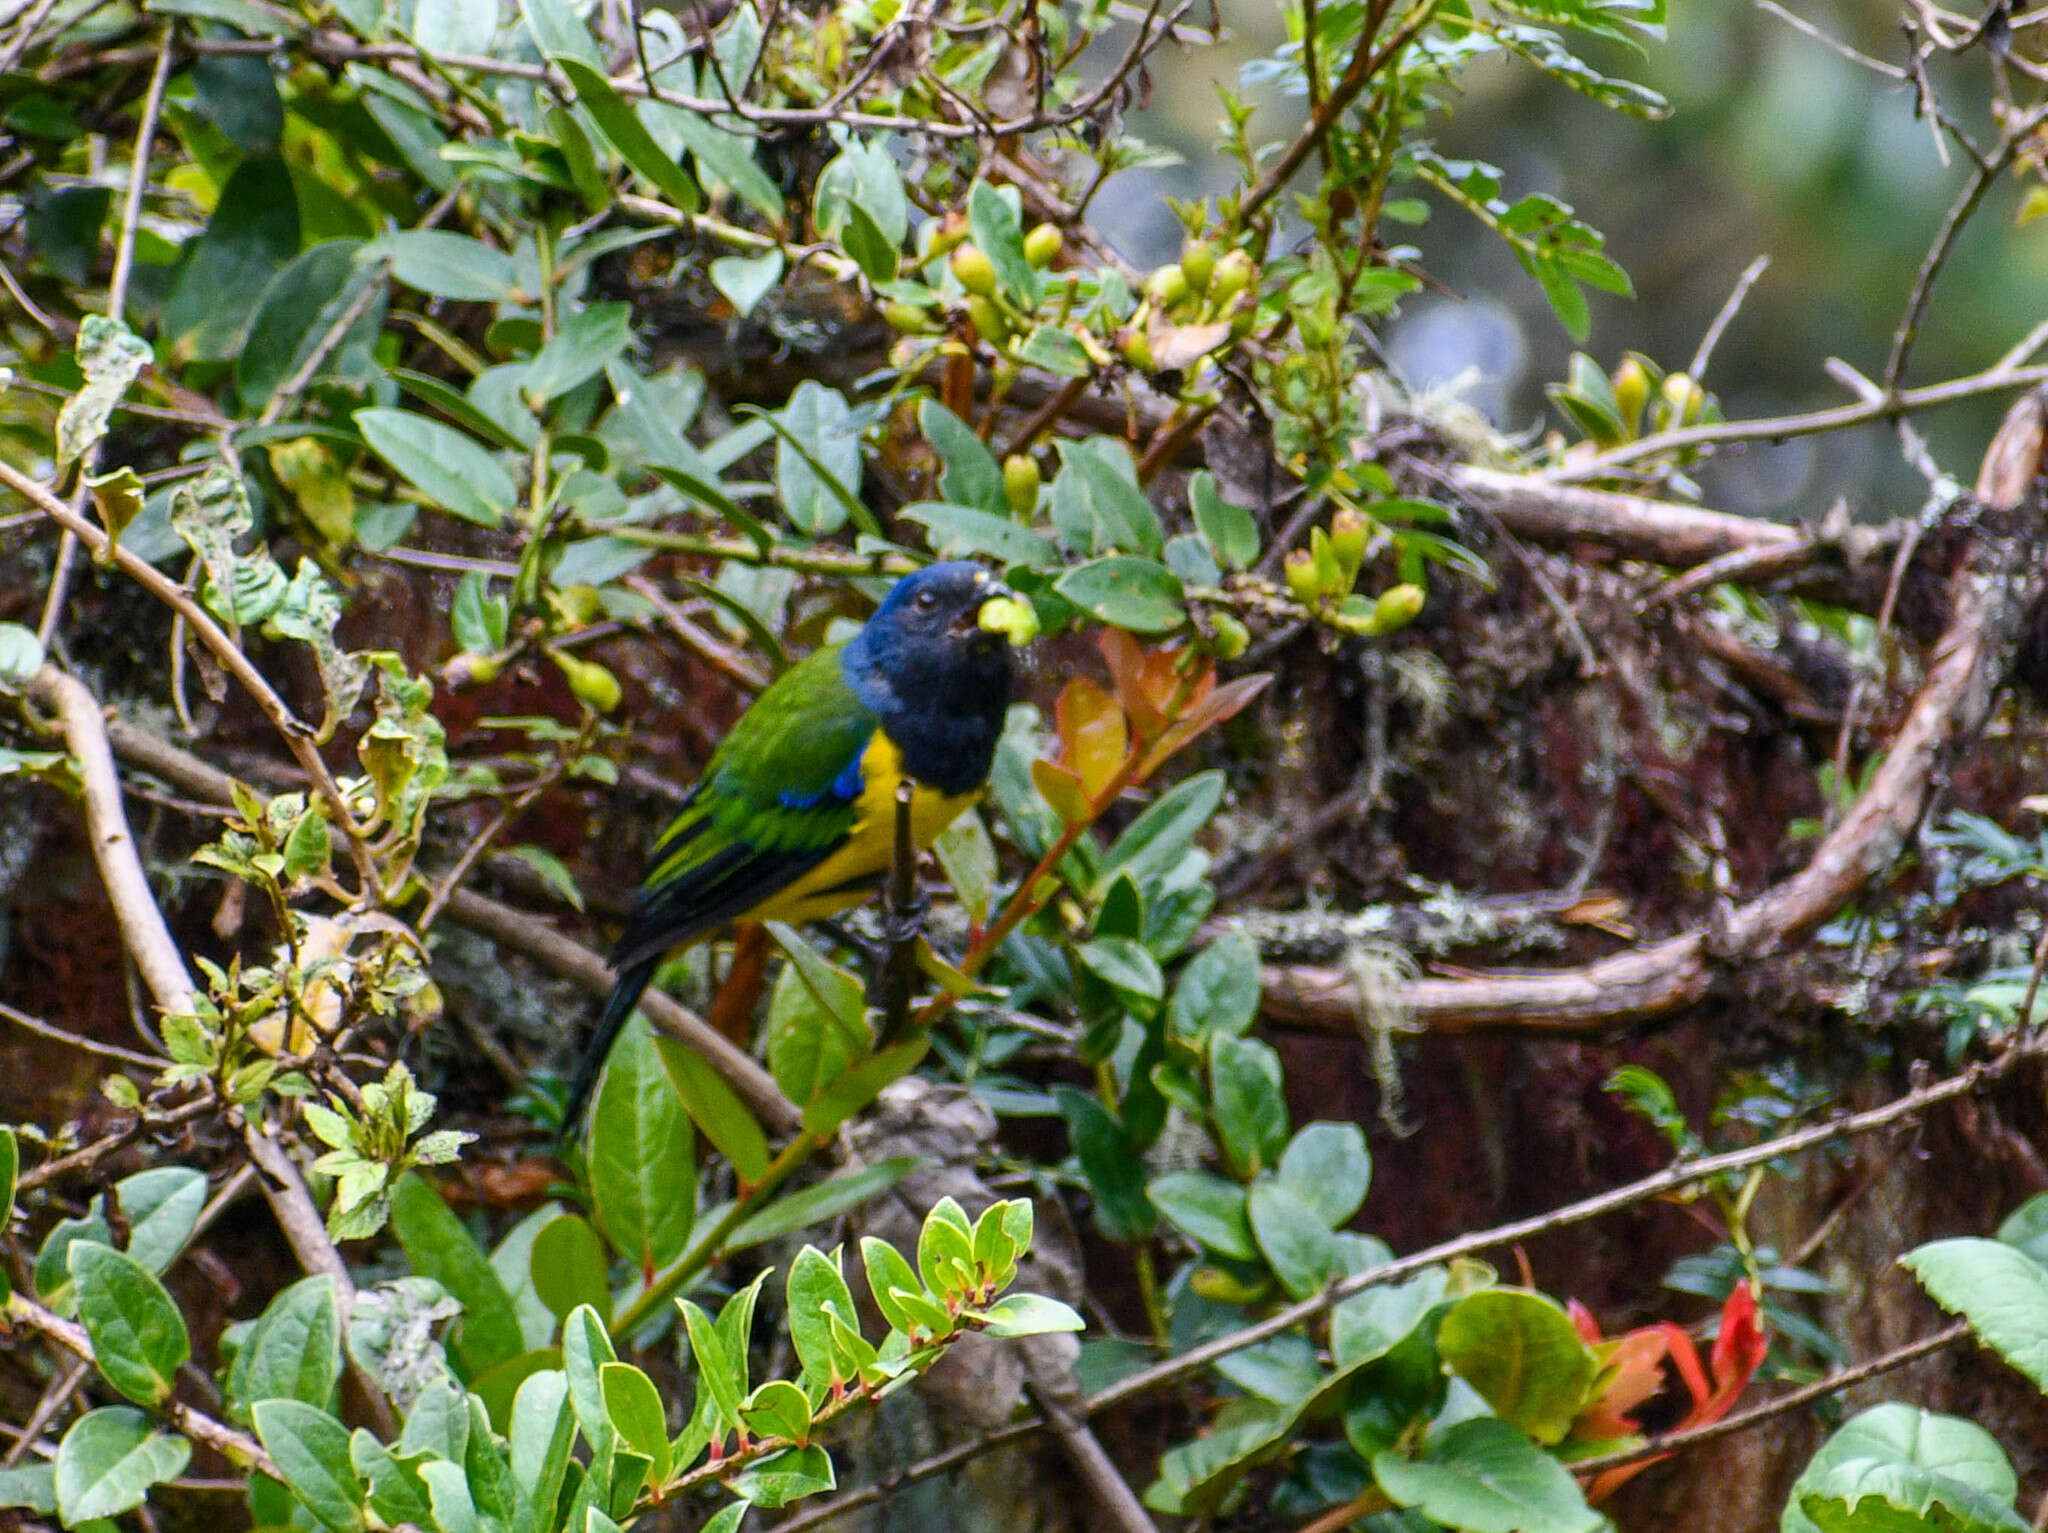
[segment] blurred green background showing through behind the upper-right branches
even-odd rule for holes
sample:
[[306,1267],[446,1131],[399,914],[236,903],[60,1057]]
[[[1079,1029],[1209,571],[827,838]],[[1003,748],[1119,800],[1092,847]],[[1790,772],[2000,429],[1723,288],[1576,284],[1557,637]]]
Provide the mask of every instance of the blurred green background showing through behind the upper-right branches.
[[[1898,14],[1855,0],[1802,0],[1792,10],[1841,43],[1903,63]],[[1139,266],[1180,250],[1163,201],[1214,194],[1233,168],[1212,145],[1217,84],[1241,86],[1247,63],[1284,41],[1276,8],[1219,0],[1214,45],[1163,49],[1153,92],[1130,129],[1171,147],[1178,166],[1114,178],[1098,201],[1102,231]],[[2019,39],[2040,33],[2023,31]],[[1505,194],[1552,192],[1608,235],[1636,297],[1589,295],[1585,348],[1606,366],[1636,350],[1683,366],[1731,289],[1757,256],[1769,270],[1714,350],[1706,385],[1731,420],[1847,401],[1821,360],[1839,356],[1874,377],[1913,272],[1962,184],[1966,160],[1937,141],[1909,84],[1886,80],[1743,0],[1675,4],[1669,37],[1647,55],[1591,43],[1587,59],[1659,90],[1665,121],[1614,113],[1534,70],[1481,59],[1438,121],[1448,156],[1491,158]],[[1929,65],[1944,108],[1978,141],[1991,135],[1985,72]],[[1298,98],[1249,92],[1253,127],[1284,137]],[[1907,383],[1989,366],[2048,303],[2048,223],[2021,223],[2025,186],[2005,178],[1935,287]],[[1544,383],[1565,377],[1571,340],[1511,252],[1438,203],[1425,237],[1440,291],[1411,299],[1382,334],[1386,360],[1419,389],[1456,385],[1505,432],[1561,426]],[[1962,479],[2005,401],[1980,397],[1919,418],[1935,458]],[[1776,518],[1821,516],[1837,497],[1855,520],[1884,520],[1925,497],[1890,428],[1755,444],[1700,475],[1710,506]]]

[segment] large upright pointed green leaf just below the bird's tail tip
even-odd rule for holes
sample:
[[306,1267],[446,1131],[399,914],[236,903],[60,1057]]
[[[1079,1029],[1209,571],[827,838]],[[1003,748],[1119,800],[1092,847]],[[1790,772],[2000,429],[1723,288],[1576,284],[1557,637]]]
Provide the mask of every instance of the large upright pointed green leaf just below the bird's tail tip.
[[643,1273],[668,1267],[696,1224],[696,1142],[645,1017],[612,1046],[590,1111],[590,1203]]

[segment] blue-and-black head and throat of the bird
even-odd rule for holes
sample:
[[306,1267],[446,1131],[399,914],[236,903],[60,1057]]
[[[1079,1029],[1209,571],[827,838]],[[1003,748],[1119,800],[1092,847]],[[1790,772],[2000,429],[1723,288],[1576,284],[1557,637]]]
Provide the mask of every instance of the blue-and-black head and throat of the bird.
[[944,792],[981,786],[1010,708],[1010,641],[981,628],[981,608],[999,596],[1010,589],[981,565],[926,565],[846,647],[846,677],[905,770]]

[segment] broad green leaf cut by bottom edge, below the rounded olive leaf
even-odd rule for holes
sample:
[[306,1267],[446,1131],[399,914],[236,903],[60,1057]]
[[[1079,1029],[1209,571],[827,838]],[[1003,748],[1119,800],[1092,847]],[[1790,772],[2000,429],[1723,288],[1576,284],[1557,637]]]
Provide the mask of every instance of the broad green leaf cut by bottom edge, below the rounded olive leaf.
[[1432,1433],[1419,1459],[1372,1457],[1372,1478],[1397,1506],[1413,1506],[1466,1533],[1599,1533],[1608,1519],[1585,1504],[1563,1463],[1503,1420],[1460,1420]]

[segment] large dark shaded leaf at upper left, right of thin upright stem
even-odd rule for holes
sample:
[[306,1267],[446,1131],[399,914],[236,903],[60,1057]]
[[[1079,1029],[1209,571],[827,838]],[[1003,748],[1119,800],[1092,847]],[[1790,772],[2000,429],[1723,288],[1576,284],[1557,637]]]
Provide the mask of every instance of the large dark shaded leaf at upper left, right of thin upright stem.
[[299,196],[274,156],[250,156],[221,186],[207,231],[164,299],[160,325],[180,362],[229,362],[264,287],[299,252]]

